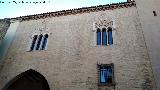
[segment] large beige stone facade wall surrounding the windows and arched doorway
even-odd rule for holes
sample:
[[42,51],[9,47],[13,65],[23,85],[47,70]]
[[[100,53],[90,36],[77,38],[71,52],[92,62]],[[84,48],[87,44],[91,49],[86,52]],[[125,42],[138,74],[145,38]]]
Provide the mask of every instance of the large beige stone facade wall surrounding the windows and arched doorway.
[[[114,44],[93,45],[94,23],[108,19],[115,25]],[[48,49],[28,52],[37,33],[49,34]],[[115,90],[154,90],[136,7],[21,22],[0,72],[0,89],[34,69],[51,90],[97,90],[97,63],[114,64]]]

